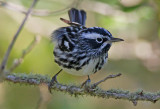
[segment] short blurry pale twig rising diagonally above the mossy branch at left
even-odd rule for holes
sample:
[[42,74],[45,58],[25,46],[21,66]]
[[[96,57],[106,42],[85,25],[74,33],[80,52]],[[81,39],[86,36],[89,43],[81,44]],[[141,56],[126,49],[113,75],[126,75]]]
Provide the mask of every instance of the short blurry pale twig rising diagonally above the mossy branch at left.
[[34,40],[28,45],[26,49],[23,50],[22,55],[20,58],[15,59],[13,61],[12,66],[10,67],[9,71],[12,72],[16,67],[18,67],[24,60],[25,56],[30,53],[30,51],[35,47],[35,45],[40,41],[40,36],[35,36]]

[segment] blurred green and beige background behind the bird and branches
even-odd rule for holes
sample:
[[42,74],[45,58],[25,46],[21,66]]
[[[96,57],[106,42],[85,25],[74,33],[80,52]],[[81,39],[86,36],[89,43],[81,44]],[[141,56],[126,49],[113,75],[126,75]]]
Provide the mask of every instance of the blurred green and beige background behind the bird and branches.
[[[14,8],[2,5],[9,3]],[[0,0],[0,61],[17,31],[32,0]],[[103,89],[143,89],[157,92],[160,89],[160,1],[159,0],[39,0],[32,15],[23,28],[12,49],[7,68],[14,59],[21,56],[23,49],[35,36],[41,40],[25,57],[14,73],[34,73],[53,76],[60,70],[54,63],[54,44],[50,34],[58,27],[67,26],[59,20],[68,19],[71,7],[87,12],[87,27],[100,26],[113,36],[125,41],[113,44],[109,61],[104,68],[91,75],[96,82],[106,75],[122,73],[100,85]],[[48,13],[50,12],[50,13]],[[38,14],[37,14],[38,13]],[[78,77],[63,71],[58,81],[65,84],[81,84],[87,77]],[[159,109],[160,102],[138,102],[135,107],[126,100],[102,99],[90,96],[77,98],[61,92],[49,94],[46,86],[26,86],[3,82],[0,84],[0,109],[35,109],[38,102],[41,109]]]

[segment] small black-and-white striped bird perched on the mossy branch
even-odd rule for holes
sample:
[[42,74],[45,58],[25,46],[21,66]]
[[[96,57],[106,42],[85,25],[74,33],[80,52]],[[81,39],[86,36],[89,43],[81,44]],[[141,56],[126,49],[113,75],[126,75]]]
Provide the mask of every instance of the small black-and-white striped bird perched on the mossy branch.
[[61,70],[55,74],[49,84],[49,89],[57,81],[57,75],[66,71],[72,75],[88,76],[82,84],[90,82],[89,75],[101,70],[108,60],[108,51],[113,42],[124,41],[115,38],[102,27],[86,27],[86,12],[71,8],[68,11],[69,19],[60,18],[69,26],[60,27],[53,31],[52,41],[55,43],[54,61]]

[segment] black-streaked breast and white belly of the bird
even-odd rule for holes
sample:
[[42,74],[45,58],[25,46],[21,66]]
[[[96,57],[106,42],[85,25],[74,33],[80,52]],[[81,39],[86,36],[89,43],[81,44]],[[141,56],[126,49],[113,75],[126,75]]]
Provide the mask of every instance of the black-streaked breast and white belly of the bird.
[[106,56],[97,58],[86,56],[85,54],[77,54],[63,52],[60,49],[54,51],[55,62],[67,73],[73,75],[90,75],[99,71],[107,61]]

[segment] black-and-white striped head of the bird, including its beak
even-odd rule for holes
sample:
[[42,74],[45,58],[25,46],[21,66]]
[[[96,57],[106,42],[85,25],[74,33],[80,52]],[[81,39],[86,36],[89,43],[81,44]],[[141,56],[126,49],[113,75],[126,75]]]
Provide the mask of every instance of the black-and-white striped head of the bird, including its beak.
[[112,34],[100,27],[91,27],[82,30],[79,35],[79,47],[86,52],[96,54],[107,53],[113,42],[124,41],[120,38],[114,38]]

